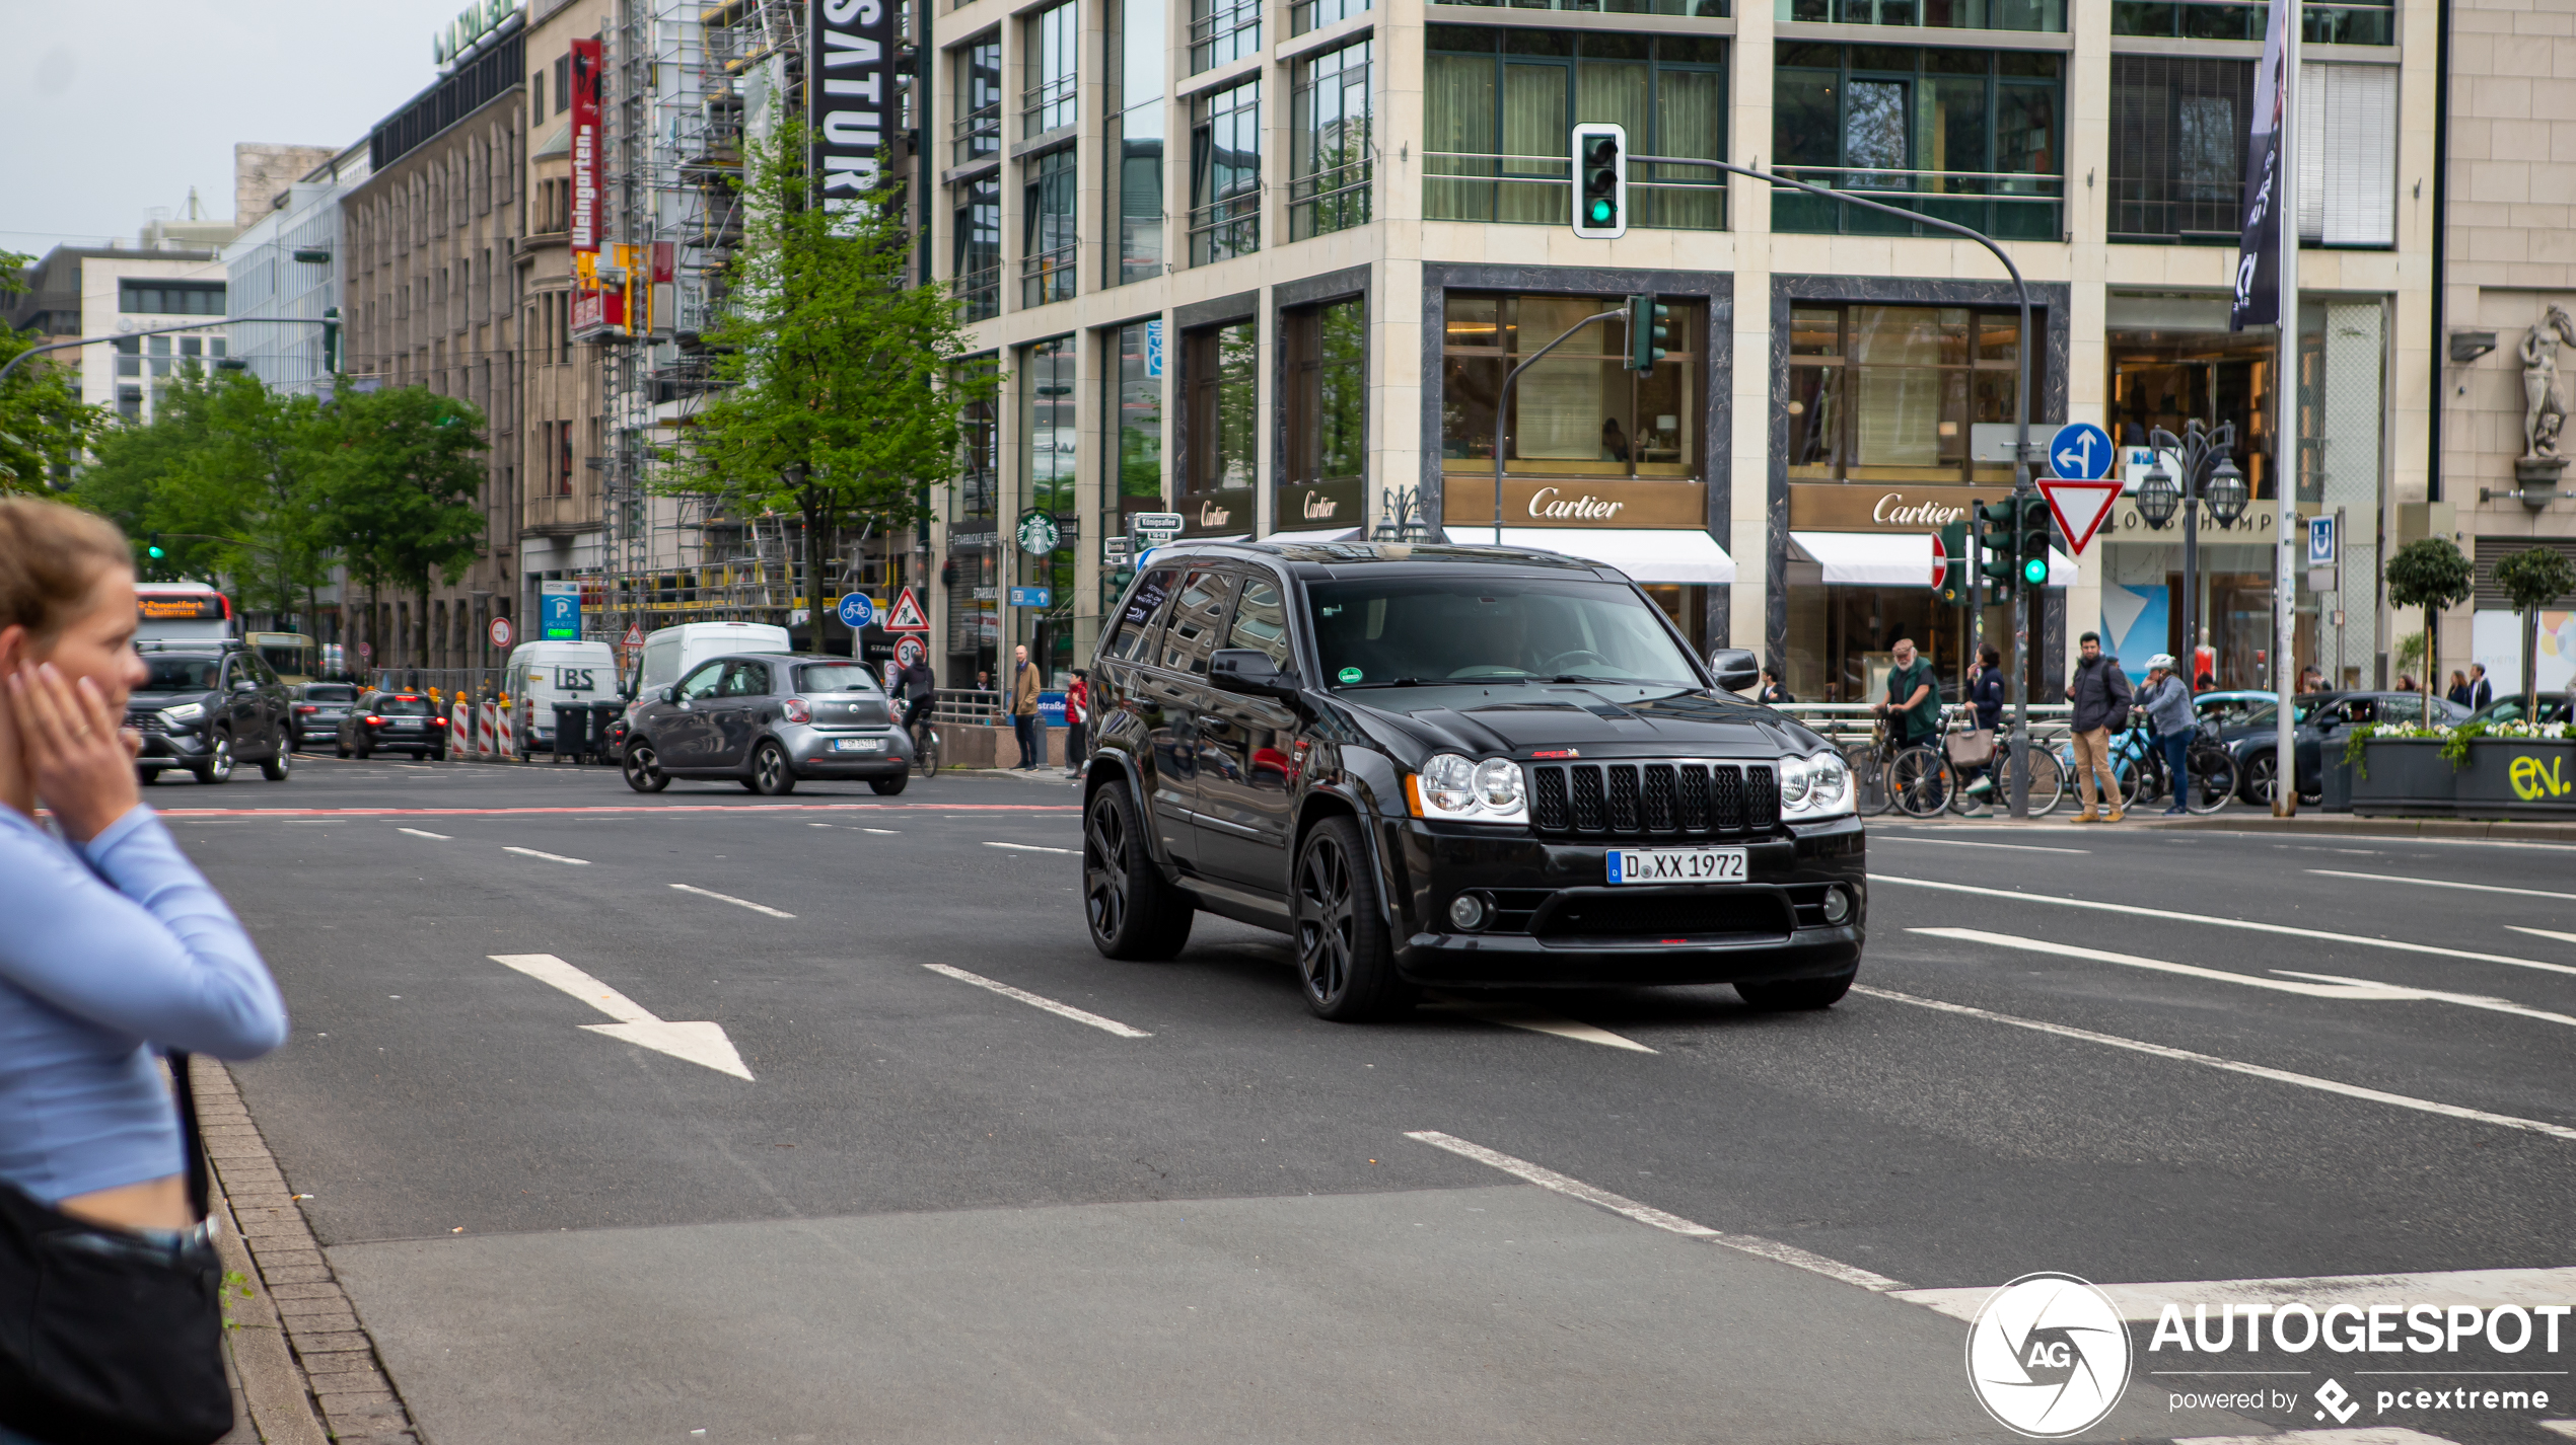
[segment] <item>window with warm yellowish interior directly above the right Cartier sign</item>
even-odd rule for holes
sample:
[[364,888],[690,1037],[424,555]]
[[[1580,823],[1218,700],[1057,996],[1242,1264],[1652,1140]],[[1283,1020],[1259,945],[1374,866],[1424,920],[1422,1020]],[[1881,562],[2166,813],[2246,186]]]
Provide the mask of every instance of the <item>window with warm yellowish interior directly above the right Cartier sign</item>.
[[[2040,330],[2038,312],[2030,325]],[[2017,309],[1801,304],[1790,309],[1788,474],[2012,482],[2017,386]]]

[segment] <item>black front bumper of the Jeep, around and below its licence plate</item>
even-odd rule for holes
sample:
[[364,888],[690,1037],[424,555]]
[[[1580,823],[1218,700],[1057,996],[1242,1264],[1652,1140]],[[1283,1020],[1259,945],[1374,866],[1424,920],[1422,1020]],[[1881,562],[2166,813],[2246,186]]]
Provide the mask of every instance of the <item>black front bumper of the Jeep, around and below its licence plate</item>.
[[[1868,855],[1860,819],[1747,840],[1744,883],[1610,886],[1605,842],[1476,824],[1388,824],[1399,871],[1396,971],[1437,987],[1736,984],[1824,979],[1860,966]],[[1680,840],[1620,840],[1672,847]],[[1713,840],[1731,847],[1731,840]],[[1826,922],[1826,894],[1850,912]],[[1450,925],[1458,894],[1492,922]]]

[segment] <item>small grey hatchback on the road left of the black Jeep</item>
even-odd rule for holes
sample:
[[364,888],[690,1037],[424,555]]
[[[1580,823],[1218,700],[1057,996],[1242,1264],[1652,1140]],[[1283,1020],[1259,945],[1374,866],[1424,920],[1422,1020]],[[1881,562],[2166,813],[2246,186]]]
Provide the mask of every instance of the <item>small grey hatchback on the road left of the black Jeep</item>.
[[876,672],[848,657],[757,652],[711,657],[626,713],[626,786],[732,778],[793,793],[799,778],[866,778],[878,793],[912,780],[912,737],[894,726]]

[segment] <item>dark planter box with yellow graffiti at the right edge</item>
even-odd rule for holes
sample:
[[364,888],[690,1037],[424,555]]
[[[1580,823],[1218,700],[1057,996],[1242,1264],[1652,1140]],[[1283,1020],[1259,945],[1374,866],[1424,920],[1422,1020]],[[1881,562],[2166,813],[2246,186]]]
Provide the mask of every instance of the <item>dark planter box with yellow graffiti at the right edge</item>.
[[2344,739],[2362,817],[2576,817],[2576,737],[2566,724],[2367,724]]

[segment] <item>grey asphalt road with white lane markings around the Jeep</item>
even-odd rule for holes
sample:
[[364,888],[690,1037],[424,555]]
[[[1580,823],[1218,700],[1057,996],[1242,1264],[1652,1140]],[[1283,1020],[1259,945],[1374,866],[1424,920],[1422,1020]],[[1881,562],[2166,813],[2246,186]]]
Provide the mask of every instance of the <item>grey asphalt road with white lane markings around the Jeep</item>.
[[[438,1445],[2012,1440],[1953,1316],[2035,1270],[2576,1298],[2543,1275],[2576,1265],[2563,847],[1873,827],[1829,1012],[1347,1028],[1260,930],[1092,953],[1061,778],[304,757],[147,798],[286,987],[242,1092]],[[618,1007],[721,1025],[750,1079],[585,1028]],[[2416,1272],[2491,1275],[2385,1280]],[[2349,1427],[2576,1417],[2576,1321],[2555,1355],[2195,1360],[2133,1319],[2087,1437],[2324,1430],[2324,1378],[2370,1406],[2434,1368],[2550,1370],[2519,1383],[2555,1409]],[[2298,1404],[2172,1409],[2213,1365]]]

